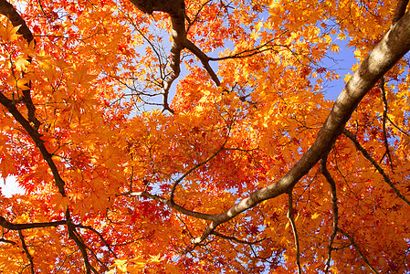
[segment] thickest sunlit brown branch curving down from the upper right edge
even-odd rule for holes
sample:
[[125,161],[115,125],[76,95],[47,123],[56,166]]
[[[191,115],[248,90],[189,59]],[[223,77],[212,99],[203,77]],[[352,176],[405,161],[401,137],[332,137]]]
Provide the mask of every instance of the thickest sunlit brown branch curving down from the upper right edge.
[[289,193],[293,186],[299,182],[300,178],[307,174],[323,155],[331,151],[332,144],[342,133],[344,125],[349,121],[352,112],[356,109],[364,95],[409,50],[410,14],[406,13],[386,33],[379,44],[373,48],[373,51],[353,73],[352,78],[335,101],[331,113],[318,133],[316,141],[308,152],[289,170],[288,174],[285,174],[278,182],[269,184],[252,193],[225,213],[217,215],[216,221],[205,230],[202,237],[196,238],[195,242],[204,240],[217,226],[231,220],[245,210],[265,200]]

